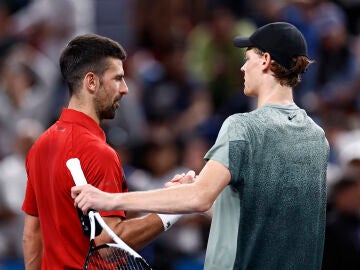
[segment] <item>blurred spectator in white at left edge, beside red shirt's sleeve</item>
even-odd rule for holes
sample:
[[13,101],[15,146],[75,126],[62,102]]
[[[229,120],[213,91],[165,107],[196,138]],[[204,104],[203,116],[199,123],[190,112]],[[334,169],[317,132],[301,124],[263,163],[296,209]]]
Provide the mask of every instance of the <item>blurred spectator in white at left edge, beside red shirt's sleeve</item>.
[[24,214],[21,201],[25,195],[25,158],[44,127],[34,119],[21,119],[15,128],[15,151],[0,162],[0,258],[22,259]]

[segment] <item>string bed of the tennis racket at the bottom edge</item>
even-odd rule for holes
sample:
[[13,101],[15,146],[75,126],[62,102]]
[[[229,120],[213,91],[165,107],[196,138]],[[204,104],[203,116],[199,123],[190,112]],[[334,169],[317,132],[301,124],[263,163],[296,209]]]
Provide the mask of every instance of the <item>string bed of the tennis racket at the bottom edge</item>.
[[87,258],[85,269],[151,270],[140,258],[113,246],[93,250]]

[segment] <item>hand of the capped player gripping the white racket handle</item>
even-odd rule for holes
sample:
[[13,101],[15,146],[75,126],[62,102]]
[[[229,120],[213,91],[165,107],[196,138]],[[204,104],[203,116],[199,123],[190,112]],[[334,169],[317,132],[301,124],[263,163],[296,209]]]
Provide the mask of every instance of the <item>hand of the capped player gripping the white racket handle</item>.
[[103,192],[92,185],[74,186],[71,188],[71,197],[74,204],[86,215],[91,209],[110,211],[114,194]]

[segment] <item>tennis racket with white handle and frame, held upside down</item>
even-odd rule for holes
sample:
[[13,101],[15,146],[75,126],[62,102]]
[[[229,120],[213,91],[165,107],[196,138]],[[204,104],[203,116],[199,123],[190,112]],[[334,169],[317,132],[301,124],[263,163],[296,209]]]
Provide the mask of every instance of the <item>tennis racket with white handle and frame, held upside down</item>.
[[[66,166],[77,186],[87,184],[79,159],[69,159]],[[84,270],[151,270],[149,264],[110,229],[98,212],[91,210],[88,215],[90,220],[90,247]],[[114,240],[114,243],[95,245],[96,221]]]

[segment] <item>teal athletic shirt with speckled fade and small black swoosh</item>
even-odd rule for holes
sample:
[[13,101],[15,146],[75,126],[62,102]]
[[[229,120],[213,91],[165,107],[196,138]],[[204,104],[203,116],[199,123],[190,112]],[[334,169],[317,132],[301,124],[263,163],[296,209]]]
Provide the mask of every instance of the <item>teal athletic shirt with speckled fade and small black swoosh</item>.
[[321,269],[329,144],[295,104],[228,117],[205,155],[231,173],[215,201],[206,270]]

